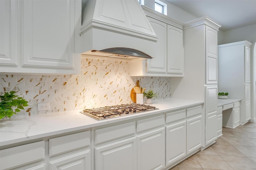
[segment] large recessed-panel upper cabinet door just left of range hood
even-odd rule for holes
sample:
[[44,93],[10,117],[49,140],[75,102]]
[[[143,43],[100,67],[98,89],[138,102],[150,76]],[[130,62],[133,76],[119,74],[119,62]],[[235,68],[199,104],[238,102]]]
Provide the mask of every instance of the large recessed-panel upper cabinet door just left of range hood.
[[73,68],[74,0],[24,0],[22,66]]

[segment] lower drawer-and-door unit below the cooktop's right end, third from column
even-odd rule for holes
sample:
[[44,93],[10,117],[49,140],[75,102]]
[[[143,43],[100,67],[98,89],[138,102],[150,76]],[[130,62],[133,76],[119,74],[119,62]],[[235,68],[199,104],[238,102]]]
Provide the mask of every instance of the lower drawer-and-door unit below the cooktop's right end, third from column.
[[138,170],[165,167],[164,115],[137,121]]

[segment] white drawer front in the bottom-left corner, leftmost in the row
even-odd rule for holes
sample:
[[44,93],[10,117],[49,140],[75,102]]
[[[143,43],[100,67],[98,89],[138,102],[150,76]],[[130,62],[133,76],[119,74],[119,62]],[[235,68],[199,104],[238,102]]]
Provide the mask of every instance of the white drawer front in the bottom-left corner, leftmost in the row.
[[28,164],[44,159],[44,140],[1,150],[0,169]]

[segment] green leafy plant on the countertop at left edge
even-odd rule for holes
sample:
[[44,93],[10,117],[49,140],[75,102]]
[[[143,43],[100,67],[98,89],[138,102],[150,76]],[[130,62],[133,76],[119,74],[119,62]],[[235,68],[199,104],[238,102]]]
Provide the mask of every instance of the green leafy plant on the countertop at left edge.
[[[0,96],[0,119],[4,117],[11,118],[13,114],[17,114],[16,112],[20,112],[20,109],[24,110],[24,107],[28,106],[28,101],[26,101],[22,97],[14,95],[15,93],[17,92],[10,91],[10,93],[6,92],[3,96]],[[14,109],[13,111],[13,108],[16,109]]]

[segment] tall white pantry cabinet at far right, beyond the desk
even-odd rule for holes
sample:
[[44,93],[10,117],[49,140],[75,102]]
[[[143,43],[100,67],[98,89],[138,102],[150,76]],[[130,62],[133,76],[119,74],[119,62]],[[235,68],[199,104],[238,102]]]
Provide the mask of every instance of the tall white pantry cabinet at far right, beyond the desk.
[[250,46],[248,41],[218,45],[218,89],[241,99],[240,125],[251,119]]

